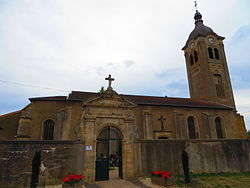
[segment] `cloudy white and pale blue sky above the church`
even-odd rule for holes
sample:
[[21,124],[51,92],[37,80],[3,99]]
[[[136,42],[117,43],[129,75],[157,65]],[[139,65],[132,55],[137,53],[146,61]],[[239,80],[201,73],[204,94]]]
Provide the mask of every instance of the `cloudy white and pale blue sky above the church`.
[[[224,40],[237,110],[250,129],[250,1],[199,0]],[[0,114],[28,98],[98,92],[189,97],[192,0],[0,0]]]

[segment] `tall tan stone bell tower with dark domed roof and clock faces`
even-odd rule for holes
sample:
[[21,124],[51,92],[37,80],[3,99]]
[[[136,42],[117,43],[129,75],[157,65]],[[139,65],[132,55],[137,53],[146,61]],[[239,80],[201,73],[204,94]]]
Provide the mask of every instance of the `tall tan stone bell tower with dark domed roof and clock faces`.
[[196,10],[195,28],[182,48],[185,54],[190,97],[235,108],[224,51],[224,37],[203,24]]

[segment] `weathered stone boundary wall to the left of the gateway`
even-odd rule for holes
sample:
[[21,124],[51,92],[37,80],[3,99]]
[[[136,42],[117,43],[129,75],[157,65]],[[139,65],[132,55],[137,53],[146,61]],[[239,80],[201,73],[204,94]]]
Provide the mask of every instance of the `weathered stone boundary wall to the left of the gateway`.
[[41,184],[60,184],[67,174],[81,174],[84,145],[74,141],[0,141],[0,188],[28,187],[35,151],[46,167]]

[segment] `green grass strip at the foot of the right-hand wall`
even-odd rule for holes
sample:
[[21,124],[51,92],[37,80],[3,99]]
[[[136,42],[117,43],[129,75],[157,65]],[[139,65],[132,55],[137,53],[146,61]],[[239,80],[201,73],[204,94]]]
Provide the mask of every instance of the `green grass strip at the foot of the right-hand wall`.
[[250,172],[191,174],[191,183],[184,183],[184,176],[172,176],[169,188],[249,188]]

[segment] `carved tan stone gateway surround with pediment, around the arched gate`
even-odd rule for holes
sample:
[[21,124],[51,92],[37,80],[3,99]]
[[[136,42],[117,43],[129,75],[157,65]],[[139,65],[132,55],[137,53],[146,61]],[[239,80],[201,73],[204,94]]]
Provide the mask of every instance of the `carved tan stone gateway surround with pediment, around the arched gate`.
[[122,135],[122,170],[120,172],[122,177],[125,179],[134,177],[133,148],[138,138],[138,128],[132,110],[135,106],[134,103],[115,92],[109,95],[100,94],[99,97],[83,103],[82,121],[78,132],[80,139],[85,143],[83,174],[87,176],[86,181],[93,182],[96,179],[97,138],[107,126],[116,127]]

